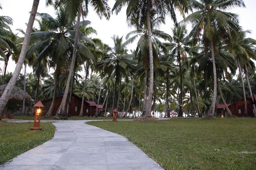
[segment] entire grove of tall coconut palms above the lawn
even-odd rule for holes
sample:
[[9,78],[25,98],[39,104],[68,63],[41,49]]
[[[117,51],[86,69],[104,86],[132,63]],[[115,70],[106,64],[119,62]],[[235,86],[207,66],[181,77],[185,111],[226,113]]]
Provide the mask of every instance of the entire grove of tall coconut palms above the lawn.
[[[97,31],[85,20],[88,5],[108,19],[107,0],[46,0],[54,6],[55,17],[36,13],[38,3],[33,2],[26,33],[20,30],[25,37],[12,33],[11,18],[0,17],[0,55],[6,63],[3,83],[9,82],[0,111],[23,64],[35,72],[35,101],[53,98],[46,116],[52,114],[55,97],[63,94],[56,118],[69,115],[71,92],[82,101],[103,103],[110,115],[117,109],[122,116],[151,116],[156,111],[165,112],[164,116],[177,112],[180,117],[214,116],[216,102],[224,103],[231,116],[226,103],[241,98],[246,102],[246,96],[256,92],[256,40],[246,37],[249,31],[242,30],[237,14],[226,11],[244,7],[243,0],[116,0],[112,13],[126,7],[127,23],[136,30],[125,38],[113,35],[113,47],[91,38]],[[179,23],[176,11],[184,17]],[[167,15],[174,21],[170,34],[156,29]],[[38,28],[33,27],[34,20]],[[135,41],[136,49],[127,49]],[[11,56],[17,66],[6,81]],[[49,69],[54,73],[48,74]],[[79,74],[82,71],[85,76]],[[25,82],[26,76],[26,90]]]

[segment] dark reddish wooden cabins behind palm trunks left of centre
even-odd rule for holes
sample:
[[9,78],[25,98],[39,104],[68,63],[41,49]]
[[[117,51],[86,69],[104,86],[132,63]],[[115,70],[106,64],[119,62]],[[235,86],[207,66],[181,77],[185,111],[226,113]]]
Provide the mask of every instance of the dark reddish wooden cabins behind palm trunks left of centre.
[[[63,97],[63,95],[60,95],[55,98],[54,108],[52,110],[52,116],[55,116],[59,106],[61,105],[62,97]],[[68,95],[68,98],[66,101],[66,108],[68,105],[68,101],[69,101],[69,95]],[[84,116],[95,116],[96,104],[95,104],[95,106],[90,105],[91,102],[94,102],[94,101],[84,101],[84,105],[83,105],[83,115]],[[45,106],[45,108],[43,108],[42,114],[45,115],[51,106],[52,98],[42,101],[42,103]],[[70,116],[79,116],[81,105],[82,105],[82,99],[79,96],[72,93],[71,105],[69,107]]]

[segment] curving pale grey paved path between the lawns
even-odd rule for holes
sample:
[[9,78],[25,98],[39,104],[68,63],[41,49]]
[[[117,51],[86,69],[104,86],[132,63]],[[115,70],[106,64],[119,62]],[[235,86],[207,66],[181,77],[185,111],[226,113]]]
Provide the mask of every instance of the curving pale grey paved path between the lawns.
[[0,166],[0,170],[162,170],[125,137],[84,124],[55,122],[54,138]]

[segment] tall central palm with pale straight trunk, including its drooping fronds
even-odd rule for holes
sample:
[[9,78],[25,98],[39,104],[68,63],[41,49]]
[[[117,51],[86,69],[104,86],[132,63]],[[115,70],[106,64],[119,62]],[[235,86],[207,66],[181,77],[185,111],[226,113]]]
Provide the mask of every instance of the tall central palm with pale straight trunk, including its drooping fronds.
[[[152,47],[152,24],[151,21],[154,18],[164,18],[166,13],[170,13],[172,19],[175,23],[175,9],[181,11],[181,13],[187,12],[188,10],[188,1],[187,0],[116,0],[112,11],[116,11],[116,14],[120,12],[121,8],[128,6],[126,9],[127,21],[129,25],[135,26],[137,30],[143,28],[143,23],[146,23],[147,26],[147,35],[148,35],[148,47],[149,47],[149,91],[148,91],[148,100],[146,102],[146,116],[151,116],[151,105],[152,105],[152,93],[153,93],[153,47]],[[162,20],[158,20],[158,24]]]

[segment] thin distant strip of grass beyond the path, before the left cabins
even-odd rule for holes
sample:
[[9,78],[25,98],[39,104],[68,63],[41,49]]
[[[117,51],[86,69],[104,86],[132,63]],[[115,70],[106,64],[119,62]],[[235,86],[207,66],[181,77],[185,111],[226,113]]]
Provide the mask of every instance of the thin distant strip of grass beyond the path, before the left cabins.
[[[14,115],[14,119],[22,119],[22,120],[34,120],[34,116],[28,115]],[[131,119],[131,118],[117,118],[117,119]],[[41,117],[41,120],[54,120],[53,118],[45,118]],[[88,116],[71,116],[68,120],[113,120],[113,117],[88,117]]]

